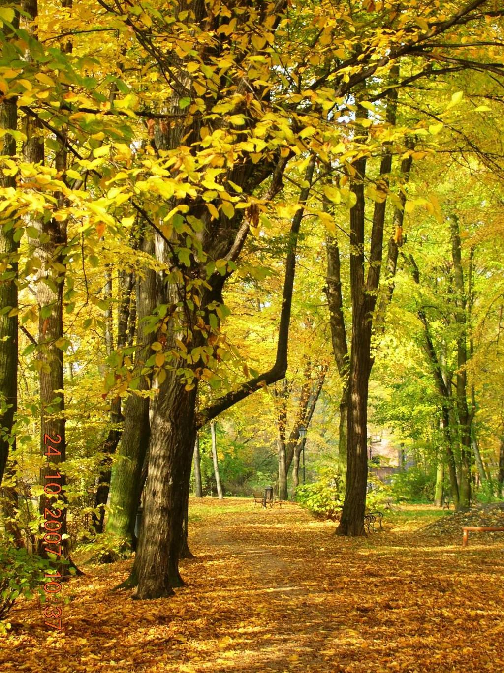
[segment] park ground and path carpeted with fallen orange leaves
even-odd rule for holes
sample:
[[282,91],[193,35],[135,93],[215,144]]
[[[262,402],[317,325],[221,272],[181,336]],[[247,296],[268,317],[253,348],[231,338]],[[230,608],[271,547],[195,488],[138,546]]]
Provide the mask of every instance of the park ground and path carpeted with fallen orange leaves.
[[[113,592],[131,561],[63,587],[63,631],[19,602],[0,670],[41,673],[504,672],[504,534],[436,536],[427,505],[349,540],[297,505],[191,499],[187,586]],[[446,513],[444,513],[446,516]]]

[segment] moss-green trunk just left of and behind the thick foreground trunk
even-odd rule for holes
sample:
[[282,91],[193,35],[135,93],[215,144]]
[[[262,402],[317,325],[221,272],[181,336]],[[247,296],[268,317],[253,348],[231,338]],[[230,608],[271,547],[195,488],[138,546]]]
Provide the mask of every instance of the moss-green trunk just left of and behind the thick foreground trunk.
[[[152,242],[145,240],[144,252],[152,251]],[[152,315],[156,306],[156,273],[146,269],[137,279],[137,355],[133,376],[137,378],[139,392],[149,389],[150,382],[141,374],[150,357],[155,332],[146,333],[143,318]],[[106,532],[125,540],[121,553],[128,554],[135,542],[135,521],[141,497],[141,471],[144,466],[150,439],[149,398],[133,393],[125,403],[124,429],[111,481],[111,512],[106,522]],[[113,560],[113,559],[104,559]]]

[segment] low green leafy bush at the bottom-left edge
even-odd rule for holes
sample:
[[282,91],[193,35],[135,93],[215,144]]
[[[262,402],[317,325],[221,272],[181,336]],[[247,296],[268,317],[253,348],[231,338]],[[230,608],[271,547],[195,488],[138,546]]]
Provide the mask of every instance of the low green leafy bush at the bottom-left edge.
[[[44,600],[44,573],[51,569],[49,561],[25,548],[11,546],[7,540],[0,542],[0,621],[5,619],[15,600],[20,596],[34,598],[40,594]],[[5,632],[5,625],[0,625]]]

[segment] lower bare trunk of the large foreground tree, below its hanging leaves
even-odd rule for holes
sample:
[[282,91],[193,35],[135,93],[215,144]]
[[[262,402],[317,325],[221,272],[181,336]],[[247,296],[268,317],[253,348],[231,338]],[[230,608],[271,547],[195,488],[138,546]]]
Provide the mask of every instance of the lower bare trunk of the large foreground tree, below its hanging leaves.
[[[170,371],[154,406],[144,517],[133,565],[135,598],[169,596],[173,587],[183,585],[179,555],[196,439],[196,391],[185,390]],[[164,540],[167,545],[161,544]]]

